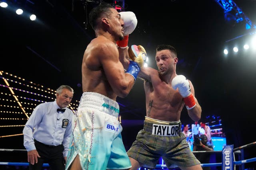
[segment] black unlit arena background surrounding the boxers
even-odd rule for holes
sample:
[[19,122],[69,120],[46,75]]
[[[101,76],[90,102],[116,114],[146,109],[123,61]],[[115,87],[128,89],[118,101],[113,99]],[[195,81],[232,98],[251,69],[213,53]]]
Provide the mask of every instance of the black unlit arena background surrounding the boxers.
[[[37,20],[30,21],[26,14],[18,16],[12,8],[0,8],[0,70],[54,90],[61,84],[70,85],[75,91],[73,101],[79,101],[82,57],[95,36],[87,15],[98,1],[87,2],[87,6],[82,0],[8,2],[9,6],[23,6],[26,11],[34,12]],[[255,24],[256,1],[234,2]],[[241,50],[236,55],[232,52],[227,57],[223,55],[225,46],[241,43],[250,38],[246,34],[256,30],[246,30],[244,21],[225,20],[224,10],[214,0],[126,0],[124,7],[138,19],[136,29],[129,36],[129,45],[143,45],[150,67],[157,68],[156,45],[170,44],[176,48],[177,74],[192,81],[202,107],[202,120],[207,121],[208,115],[220,116],[227,144],[233,144],[234,148],[256,141],[256,53]],[[228,41],[240,35],[244,36]],[[137,79],[130,94],[117,101],[123,105],[120,107],[122,137],[128,149],[142,128],[146,113],[143,81]],[[181,121],[194,123],[186,109],[182,111]],[[6,134],[22,133],[23,129],[0,128]],[[0,144],[2,148],[24,149],[23,136],[0,138]],[[245,158],[255,157],[255,151],[255,147],[248,149]]]

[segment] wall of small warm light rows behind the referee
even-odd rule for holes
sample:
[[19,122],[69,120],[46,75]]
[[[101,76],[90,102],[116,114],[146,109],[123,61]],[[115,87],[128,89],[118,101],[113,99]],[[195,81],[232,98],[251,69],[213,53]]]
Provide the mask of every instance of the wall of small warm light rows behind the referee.
[[[8,128],[0,137],[23,135],[28,115],[38,104],[55,100],[55,94],[56,90],[0,70],[0,128]],[[68,107],[75,113],[78,104],[75,100]]]

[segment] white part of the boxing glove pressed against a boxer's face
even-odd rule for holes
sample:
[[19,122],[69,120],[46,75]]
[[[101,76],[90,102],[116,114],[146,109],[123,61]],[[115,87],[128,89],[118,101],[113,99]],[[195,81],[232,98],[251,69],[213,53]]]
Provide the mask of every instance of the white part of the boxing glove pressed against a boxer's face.
[[133,12],[119,12],[121,19],[124,21],[124,35],[129,35],[137,26],[138,20]]

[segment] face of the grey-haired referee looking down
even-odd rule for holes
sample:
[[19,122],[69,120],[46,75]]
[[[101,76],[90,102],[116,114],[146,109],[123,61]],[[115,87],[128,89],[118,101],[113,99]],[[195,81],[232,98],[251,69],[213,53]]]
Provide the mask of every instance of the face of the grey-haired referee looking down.
[[56,94],[56,103],[62,109],[68,107],[73,98],[73,93],[64,88],[60,94]]

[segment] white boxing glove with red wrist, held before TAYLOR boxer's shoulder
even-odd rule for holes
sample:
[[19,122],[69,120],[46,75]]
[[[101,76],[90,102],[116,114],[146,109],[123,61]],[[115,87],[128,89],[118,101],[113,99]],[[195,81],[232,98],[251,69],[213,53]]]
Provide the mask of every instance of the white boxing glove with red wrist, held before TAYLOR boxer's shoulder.
[[191,93],[188,80],[183,75],[178,75],[172,79],[172,88],[179,89],[180,95],[183,97],[187,109],[192,109],[196,106],[194,96]]

